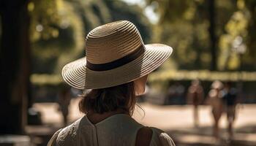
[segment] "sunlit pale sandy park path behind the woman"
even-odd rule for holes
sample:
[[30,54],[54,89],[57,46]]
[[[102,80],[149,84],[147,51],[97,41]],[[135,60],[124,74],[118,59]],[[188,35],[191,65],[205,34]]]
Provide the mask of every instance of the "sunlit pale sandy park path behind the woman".
[[[78,99],[72,99],[69,110],[69,120],[74,121],[81,116],[78,111]],[[34,107],[42,112],[42,120],[45,124],[60,126],[61,115],[56,103],[37,103]],[[211,107],[200,106],[200,127],[194,128],[192,120],[192,106],[167,105],[159,106],[141,103],[140,108],[135,109],[134,118],[146,126],[154,126],[167,131],[179,145],[226,145],[227,142],[219,142],[211,137]],[[232,145],[256,145],[256,104],[243,104],[238,109],[237,120],[234,125],[235,137]],[[222,116],[220,127],[222,139],[226,139],[225,130],[227,123],[225,115]],[[229,144],[230,145],[230,144]]]

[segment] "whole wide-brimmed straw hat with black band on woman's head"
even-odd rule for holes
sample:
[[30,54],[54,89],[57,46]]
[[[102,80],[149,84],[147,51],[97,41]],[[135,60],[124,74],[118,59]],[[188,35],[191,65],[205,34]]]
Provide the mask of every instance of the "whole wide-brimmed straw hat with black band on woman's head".
[[167,45],[144,45],[134,24],[116,21],[89,32],[86,57],[64,66],[62,77],[82,90],[121,85],[154,71],[172,51]]

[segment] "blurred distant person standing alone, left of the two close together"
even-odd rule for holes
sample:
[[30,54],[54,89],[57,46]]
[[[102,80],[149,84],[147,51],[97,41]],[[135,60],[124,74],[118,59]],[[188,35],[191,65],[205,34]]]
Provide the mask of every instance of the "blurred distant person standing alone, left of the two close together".
[[203,101],[203,87],[200,80],[193,80],[189,86],[187,93],[187,102],[188,104],[193,104],[194,107],[194,126],[199,126],[199,117],[198,117],[198,106]]

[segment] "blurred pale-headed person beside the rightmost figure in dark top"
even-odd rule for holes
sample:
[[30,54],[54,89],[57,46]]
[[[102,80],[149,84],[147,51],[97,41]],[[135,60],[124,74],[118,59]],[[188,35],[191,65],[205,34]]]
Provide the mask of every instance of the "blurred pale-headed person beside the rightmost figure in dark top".
[[211,105],[211,113],[214,117],[214,137],[217,139],[219,139],[219,119],[222,117],[223,112],[222,90],[222,82],[215,80],[211,84],[211,91],[209,91],[206,99],[206,104]]

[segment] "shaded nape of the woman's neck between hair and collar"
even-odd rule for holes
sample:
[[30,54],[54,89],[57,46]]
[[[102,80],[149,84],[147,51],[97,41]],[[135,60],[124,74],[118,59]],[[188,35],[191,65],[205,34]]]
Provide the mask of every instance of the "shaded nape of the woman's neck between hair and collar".
[[91,123],[96,124],[99,123],[102,120],[105,120],[105,118],[108,118],[112,115],[116,114],[126,114],[129,115],[129,112],[125,110],[118,109],[116,111],[111,111],[111,112],[103,112],[102,114],[94,112],[94,111],[89,111],[86,116],[87,118],[91,121]]

